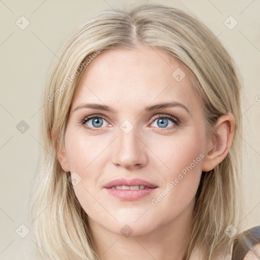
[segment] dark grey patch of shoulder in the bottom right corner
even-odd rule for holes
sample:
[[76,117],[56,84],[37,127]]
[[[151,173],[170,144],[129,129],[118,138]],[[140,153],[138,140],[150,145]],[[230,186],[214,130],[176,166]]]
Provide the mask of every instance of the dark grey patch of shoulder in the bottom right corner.
[[260,226],[254,226],[234,240],[232,260],[260,259]]

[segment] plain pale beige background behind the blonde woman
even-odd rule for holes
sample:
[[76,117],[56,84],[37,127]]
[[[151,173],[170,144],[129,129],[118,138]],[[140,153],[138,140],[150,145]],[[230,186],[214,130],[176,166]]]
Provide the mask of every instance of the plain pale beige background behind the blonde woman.
[[[91,14],[133,3],[161,3],[197,15],[222,42],[241,70],[245,84],[242,118],[245,228],[260,224],[260,1],[0,1],[1,55],[1,242],[0,260],[25,259],[25,241],[34,244],[31,232],[22,239],[29,184],[38,146],[41,94],[48,68],[62,42]],[[21,16],[29,25],[16,25]],[[233,16],[232,30],[224,21]],[[233,19],[233,18],[232,18]],[[234,22],[234,20],[232,20]],[[24,120],[29,128],[20,133]],[[17,258],[15,258],[17,257]]]

